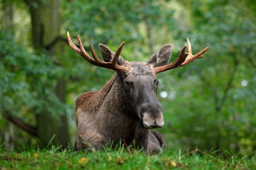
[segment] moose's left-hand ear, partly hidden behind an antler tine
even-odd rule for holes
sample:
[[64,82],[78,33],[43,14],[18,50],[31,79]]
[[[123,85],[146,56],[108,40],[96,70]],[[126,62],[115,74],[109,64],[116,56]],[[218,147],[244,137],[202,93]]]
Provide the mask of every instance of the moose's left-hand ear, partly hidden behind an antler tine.
[[[105,62],[110,62],[113,60],[113,57],[115,55],[115,52],[113,52],[111,49],[109,49],[106,45],[104,44],[99,44],[99,49],[101,52],[101,55],[103,57],[103,60]],[[124,60],[121,56],[119,56],[118,61],[117,61],[118,65],[124,65]]]

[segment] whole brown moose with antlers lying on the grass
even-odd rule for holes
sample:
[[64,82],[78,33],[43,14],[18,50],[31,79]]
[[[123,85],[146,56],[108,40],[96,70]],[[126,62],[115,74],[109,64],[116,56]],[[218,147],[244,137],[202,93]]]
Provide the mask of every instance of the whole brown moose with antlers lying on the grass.
[[76,141],[74,150],[86,148],[103,149],[109,143],[116,146],[120,142],[142,149],[148,154],[159,153],[165,147],[163,136],[149,130],[164,125],[163,106],[156,95],[157,73],[182,67],[198,58],[206,47],[192,55],[187,39],[178,58],[167,65],[173,45],[166,44],[153,54],[147,62],[128,62],[120,56],[123,42],[116,52],[99,44],[103,57],[101,61],[91,45],[93,59],[85,51],[78,35],[80,49],[72,42],[67,32],[70,47],[90,64],[112,69],[115,75],[99,90],[86,92],[76,99]]

